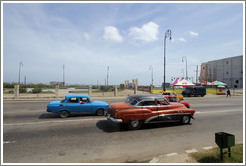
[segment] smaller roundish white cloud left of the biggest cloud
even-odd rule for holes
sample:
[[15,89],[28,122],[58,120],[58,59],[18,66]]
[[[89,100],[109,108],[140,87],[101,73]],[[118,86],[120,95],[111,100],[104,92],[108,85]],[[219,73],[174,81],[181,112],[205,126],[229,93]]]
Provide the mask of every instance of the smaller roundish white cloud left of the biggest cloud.
[[103,38],[107,41],[113,41],[117,43],[121,43],[123,41],[122,36],[118,32],[118,29],[113,26],[107,26],[104,28]]

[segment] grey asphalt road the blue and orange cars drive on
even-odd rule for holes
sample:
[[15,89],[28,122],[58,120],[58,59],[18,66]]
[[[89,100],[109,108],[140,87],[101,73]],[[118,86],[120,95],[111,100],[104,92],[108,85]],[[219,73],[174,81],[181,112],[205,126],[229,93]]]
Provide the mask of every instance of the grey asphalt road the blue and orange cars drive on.
[[208,95],[185,101],[196,109],[190,125],[147,124],[137,131],[112,124],[105,117],[61,119],[46,112],[48,101],[4,101],[3,162],[147,163],[162,154],[216,146],[214,134],[220,131],[243,142],[242,96]]

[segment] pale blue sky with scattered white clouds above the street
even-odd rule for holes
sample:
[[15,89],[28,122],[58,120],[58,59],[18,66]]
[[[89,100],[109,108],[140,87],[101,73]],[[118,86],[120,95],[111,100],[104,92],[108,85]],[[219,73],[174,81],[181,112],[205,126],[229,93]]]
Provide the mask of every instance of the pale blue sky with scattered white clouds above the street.
[[[3,3],[3,81],[161,85],[244,54],[243,3]],[[183,59],[183,62],[182,62]],[[20,62],[23,66],[20,66]],[[200,70],[199,70],[200,71]]]

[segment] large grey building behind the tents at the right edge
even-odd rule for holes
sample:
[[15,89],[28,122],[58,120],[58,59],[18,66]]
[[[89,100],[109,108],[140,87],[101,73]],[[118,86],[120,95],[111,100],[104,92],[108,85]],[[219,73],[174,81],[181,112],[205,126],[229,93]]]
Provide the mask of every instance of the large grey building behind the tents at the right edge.
[[202,63],[200,82],[215,80],[230,88],[243,88],[243,55]]

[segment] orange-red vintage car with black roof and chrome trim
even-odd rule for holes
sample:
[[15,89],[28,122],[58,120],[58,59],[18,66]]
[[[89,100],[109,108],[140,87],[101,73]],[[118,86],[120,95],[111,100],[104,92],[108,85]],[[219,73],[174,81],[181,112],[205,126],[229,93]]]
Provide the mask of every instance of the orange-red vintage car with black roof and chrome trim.
[[136,130],[145,123],[181,122],[189,124],[194,109],[181,103],[168,102],[162,95],[139,94],[127,97],[123,102],[113,103],[107,109],[107,119],[127,124]]

